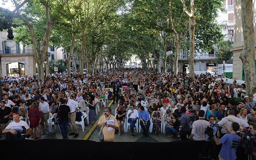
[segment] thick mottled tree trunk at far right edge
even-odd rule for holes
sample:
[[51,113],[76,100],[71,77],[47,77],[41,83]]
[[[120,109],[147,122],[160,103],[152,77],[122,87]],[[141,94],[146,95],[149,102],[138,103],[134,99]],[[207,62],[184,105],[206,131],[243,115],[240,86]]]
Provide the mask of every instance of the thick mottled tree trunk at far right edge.
[[242,28],[244,34],[244,49],[240,54],[240,59],[244,65],[246,94],[251,97],[254,94],[255,87],[255,35],[254,35],[254,18],[252,0],[241,0],[242,3]]

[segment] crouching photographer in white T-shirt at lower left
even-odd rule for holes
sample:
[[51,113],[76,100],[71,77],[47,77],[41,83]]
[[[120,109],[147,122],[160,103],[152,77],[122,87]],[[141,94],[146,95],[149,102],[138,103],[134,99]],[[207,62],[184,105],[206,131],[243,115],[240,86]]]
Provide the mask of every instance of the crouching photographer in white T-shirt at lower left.
[[13,113],[12,118],[14,122],[9,123],[3,130],[3,133],[7,133],[7,140],[15,141],[28,138],[30,133],[28,124],[20,120],[18,113]]

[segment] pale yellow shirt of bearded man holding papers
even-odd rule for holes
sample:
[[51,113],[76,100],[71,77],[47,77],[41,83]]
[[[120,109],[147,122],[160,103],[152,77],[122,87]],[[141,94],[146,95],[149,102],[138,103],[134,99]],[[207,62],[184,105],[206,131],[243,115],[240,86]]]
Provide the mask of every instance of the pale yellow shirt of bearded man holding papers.
[[[105,117],[105,115],[103,115],[103,116],[100,117],[100,120],[99,120],[98,124],[105,123],[107,120],[108,119]],[[111,115],[109,120],[114,120],[114,125],[116,127],[118,127],[118,123],[117,123],[116,117]],[[108,127],[105,126],[103,128],[102,132],[103,132],[103,135],[104,135],[104,142],[113,142],[114,141],[115,129],[108,130]]]

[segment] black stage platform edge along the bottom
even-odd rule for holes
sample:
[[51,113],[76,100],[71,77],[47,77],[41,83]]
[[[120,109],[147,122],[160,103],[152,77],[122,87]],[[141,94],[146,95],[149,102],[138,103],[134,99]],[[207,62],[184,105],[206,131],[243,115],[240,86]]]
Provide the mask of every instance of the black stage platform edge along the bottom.
[[[0,141],[0,160],[196,160],[205,141],[174,141],[169,143],[98,143],[83,140]],[[211,149],[211,146],[208,146]],[[217,146],[219,151],[221,148]],[[203,156],[207,156],[206,153]],[[245,158],[244,149],[237,148],[237,160]]]

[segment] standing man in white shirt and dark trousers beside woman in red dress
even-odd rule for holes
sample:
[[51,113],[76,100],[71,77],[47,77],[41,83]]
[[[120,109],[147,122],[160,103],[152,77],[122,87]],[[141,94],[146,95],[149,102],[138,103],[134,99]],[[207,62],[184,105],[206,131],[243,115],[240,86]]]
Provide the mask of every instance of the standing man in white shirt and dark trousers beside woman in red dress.
[[[45,101],[44,97],[40,97],[39,99],[39,111],[41,113],[41,118],[42,118],[42,132],[41,134],[44,134],[46,131],[46,134],[49,134],[49,127],[48,127],[48,118],[50,114],[50,107],[49,104]],[[45,127],[44,127],[45,124]]]

